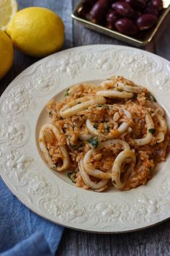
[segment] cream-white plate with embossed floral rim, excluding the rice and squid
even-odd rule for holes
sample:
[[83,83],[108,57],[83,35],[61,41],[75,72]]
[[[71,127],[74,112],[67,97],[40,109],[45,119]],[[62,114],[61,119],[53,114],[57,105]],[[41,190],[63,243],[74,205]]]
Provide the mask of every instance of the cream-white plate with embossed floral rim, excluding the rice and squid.
[[[146,86],[170,113],[170,64],[123,46],[83,46],[61,51],[24,70],[0,101],[0,170],[24,205],[50,221],[93,232],[143,229],[170,217],[170,158],[145,186],[97,193],[74,187],[40,157],[37,133],[50,98],[82,81],[123,75]],[[58,94],[59,93],[59,94]]]

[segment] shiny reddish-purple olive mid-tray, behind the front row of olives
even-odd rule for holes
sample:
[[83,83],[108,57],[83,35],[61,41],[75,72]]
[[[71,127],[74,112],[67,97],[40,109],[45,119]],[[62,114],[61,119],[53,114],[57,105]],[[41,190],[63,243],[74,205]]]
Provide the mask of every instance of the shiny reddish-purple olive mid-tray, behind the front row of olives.
[[112,9],[122,17],[133,17],[134,11],[126,1],[117,1],[112,4]]

